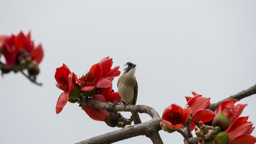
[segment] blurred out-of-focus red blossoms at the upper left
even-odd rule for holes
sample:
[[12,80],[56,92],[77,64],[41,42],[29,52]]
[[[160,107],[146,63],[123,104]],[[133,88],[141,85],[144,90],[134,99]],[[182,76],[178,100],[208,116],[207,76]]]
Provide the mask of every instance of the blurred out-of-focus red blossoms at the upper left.
[[4,47],[6,66],[12,66],[17,62],[21,52],[28,53],[28,57],[39,64],[44,56],[42,46],[34,48],[34,42],[30,40],[30,32],[25,36],[20,32],[17,36],[0,36],[0,46]]

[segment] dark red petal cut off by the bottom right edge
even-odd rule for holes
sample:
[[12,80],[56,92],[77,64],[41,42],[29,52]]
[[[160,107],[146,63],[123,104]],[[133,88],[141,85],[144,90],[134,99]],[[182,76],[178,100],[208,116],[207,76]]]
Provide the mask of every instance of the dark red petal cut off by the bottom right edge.
[[249,134],[245,134],[243,136],[239,136],[234,140],[228,142],[228,144],[255,144],[255,142],[256,142],[256,137]]

